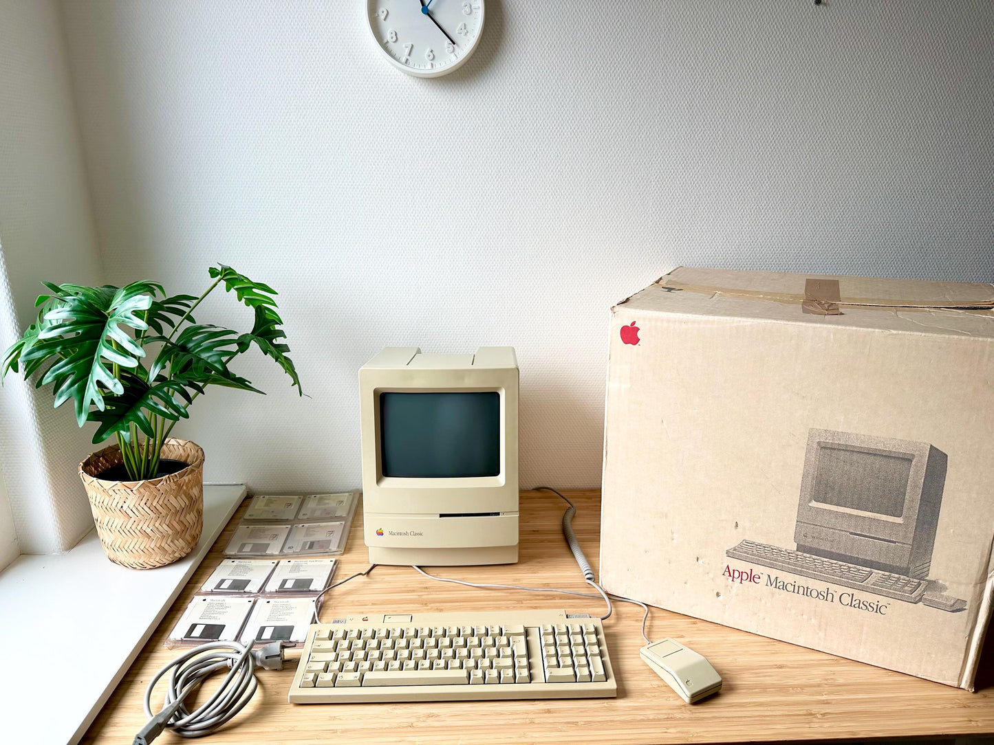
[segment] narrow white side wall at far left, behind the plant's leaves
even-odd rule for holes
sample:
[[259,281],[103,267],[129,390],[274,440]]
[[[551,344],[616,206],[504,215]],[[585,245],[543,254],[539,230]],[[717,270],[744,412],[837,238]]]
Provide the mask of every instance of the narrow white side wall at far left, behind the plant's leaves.
[[[56,0],[0,0],[0,250],[3,349],[34,320],[42,279],[101,283]],[[90,437],[72,404],[54,410],[49,389],[8,376],[0,468],[25,553],[70,548],[92,528],[77,475]]]

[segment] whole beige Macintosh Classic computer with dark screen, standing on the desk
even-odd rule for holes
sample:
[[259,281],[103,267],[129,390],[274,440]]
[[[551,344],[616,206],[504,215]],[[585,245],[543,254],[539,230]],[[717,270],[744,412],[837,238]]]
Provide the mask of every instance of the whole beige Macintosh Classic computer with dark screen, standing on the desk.
[[363,520],[377,564],[518,560],[518,363],[510,347],[390,347],[359,371]]

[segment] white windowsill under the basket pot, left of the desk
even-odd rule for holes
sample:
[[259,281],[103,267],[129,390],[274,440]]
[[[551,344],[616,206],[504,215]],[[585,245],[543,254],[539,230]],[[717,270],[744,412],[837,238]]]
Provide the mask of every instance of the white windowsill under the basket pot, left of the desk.
[[205,486],[200,543],[168,566],[111,563],[93,530],[66,553],[20,556],[0,573],[5,740],[83,737],[245,495],[243,485]]

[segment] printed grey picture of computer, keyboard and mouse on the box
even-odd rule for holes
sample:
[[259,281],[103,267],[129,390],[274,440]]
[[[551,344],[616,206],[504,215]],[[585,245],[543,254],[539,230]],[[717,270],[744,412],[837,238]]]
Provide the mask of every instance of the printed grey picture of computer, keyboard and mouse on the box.
[[[827,429],[808,434],[794,541],[744,539],[731,558],[950,612],[966,601],[927,579],[947,457],[924,442]],[[795,591],[807,588],[793,585]],[[855,593],[840,601],[880,612]]]

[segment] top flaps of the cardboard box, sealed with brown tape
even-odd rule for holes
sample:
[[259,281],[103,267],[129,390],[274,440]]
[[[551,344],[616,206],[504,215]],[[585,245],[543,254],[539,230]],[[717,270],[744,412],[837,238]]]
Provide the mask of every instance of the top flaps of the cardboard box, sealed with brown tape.
[[[824,280],[809,282],[808,280]],[[681,266],[656,280],[663,288],[735,298],[802,304],[819,301],[819,290],[838,298],[837,305],[884,308],[994,308],[994,285],[979,282],[936,282],[920,279],[875,279],[832,274],[732,271]],[[814,293],[812,293],[812,285]],[[807,291],[806,291],[807,290]],[[814,296],[813,296],[814,295]]]

